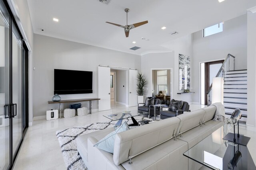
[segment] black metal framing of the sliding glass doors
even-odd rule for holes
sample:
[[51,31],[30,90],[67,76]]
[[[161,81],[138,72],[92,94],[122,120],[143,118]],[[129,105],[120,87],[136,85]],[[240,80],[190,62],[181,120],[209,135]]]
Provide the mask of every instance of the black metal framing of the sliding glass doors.
[[[22,34],[18,28],[18,25],[16,21],[14,20],[14,16],[12,14],[12,11],[10,10],[10,7],[8,5],[7,0],[0,0],[1,5],[3,5],[3,8],[6,9],[5,12],[8,13],[10,16],[9,18],[9,103],[8,105],[8,118],[9,118],[9,166],[7,167],[7,170],[12,169],[12,166],[14,165],[14,162],[16,160],[16,157],[18,155],[18,151],[20,150],[21,144],[23,142],[24,136],[26,134],[27,128],[28,128],[28,48],[26,47],[26,43],[22,40],[21,42],[21,50],[22,50],[22,136],[20,139],[20,142],[18,144],[18,147],[16,150],[14,150],[14,154],[12,154],[13,150],[13,138],[12,138],[12,117],[14,117],[14,104],[13,104],[13,90],[12,90],[12,33],[13,33],[13,24],[14,27],[16,27],[16,31],[19,34],[19,36],[22,39]],[[25,51],[25,55],[23,54],[23,50]],[[24,62],[23,62],[24,61]],[[25,95],[25,96],[24,96]],[[24,98],[23,98],[24,97]],[[25,107],[25,108],[24,108]],[[24,113],[25,111],[25,113]],[[24,117],[25,116],[25,117]],[[24,119],[25,118],[25,119]],[[23,127],[23,121],[25,121],[25,126]]]

